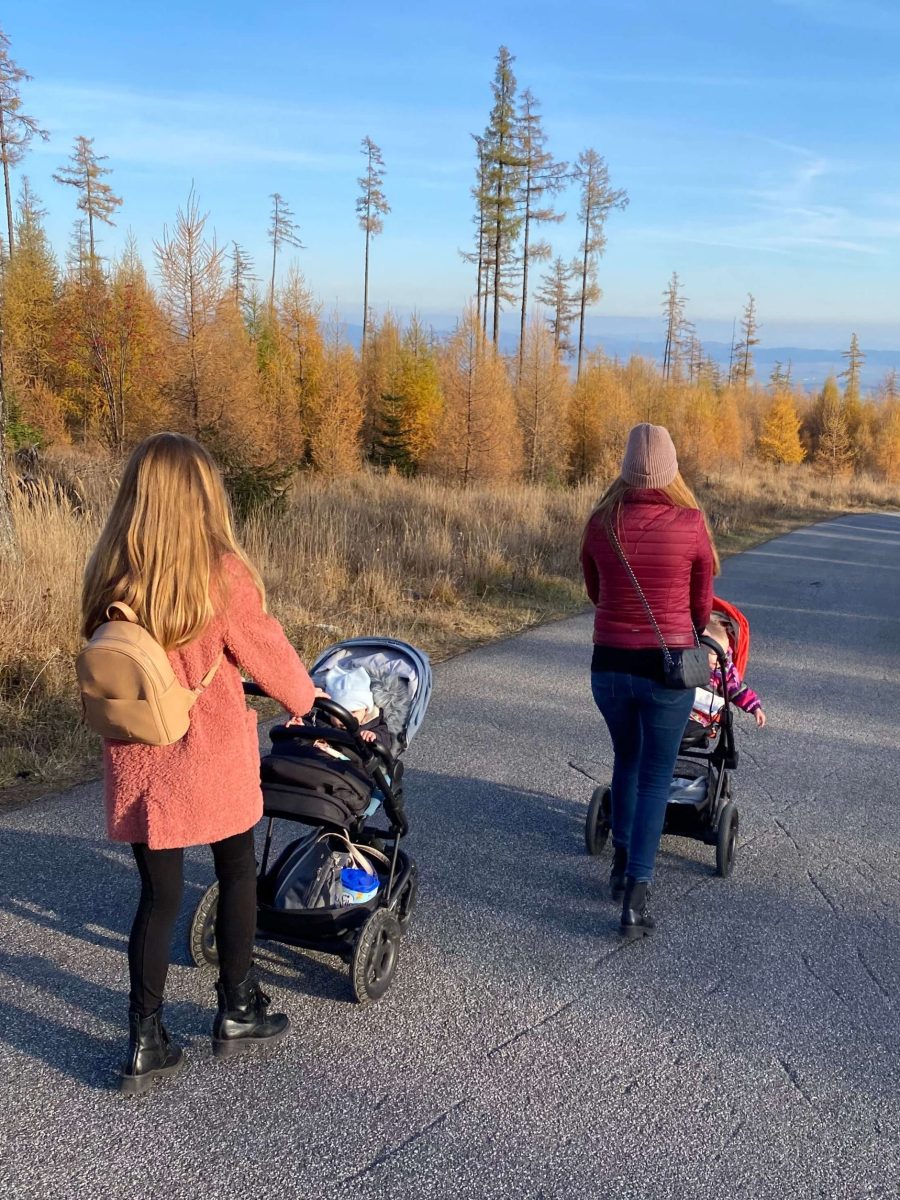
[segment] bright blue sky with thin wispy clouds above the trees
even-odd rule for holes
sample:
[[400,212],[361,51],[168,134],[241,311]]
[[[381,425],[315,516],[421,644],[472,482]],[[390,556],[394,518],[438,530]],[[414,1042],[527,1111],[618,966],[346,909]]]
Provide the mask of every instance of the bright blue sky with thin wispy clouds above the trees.
[[[392,212],[371,300],[457,312],[472,293],[473,143],[500,43],[541,101],[553,151],[605,155],[613,214],[598,318],[659,311],[673,270],[706,336],[748,292],[763,340],[900,346],[898,0],[306,0],[89,5],[5,0],[26,110],[50,130],[25,164],[62,248],[73,194],[50,179],[76,134],[109,156],[148,258],[194,182],[220,241],[265,274],[269,194],[290,203],[300,265],[328,306],[361,302],[359,144],[383,149]],[[569,257],[577,198],[550,230]],[[625,322],[628,324],[628,322]]]

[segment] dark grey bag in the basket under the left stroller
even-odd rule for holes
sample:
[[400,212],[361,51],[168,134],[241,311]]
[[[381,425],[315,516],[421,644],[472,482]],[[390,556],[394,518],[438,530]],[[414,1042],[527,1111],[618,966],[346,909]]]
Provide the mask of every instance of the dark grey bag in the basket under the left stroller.
[[377,875],[371,859],[389,865],[386,856],[380,851],[366,846],[364,853],[344,834],[328,830],[304,838],[278,868],[274,907],[286,911],[336,908],[341,905],[343,892],[341,871],[346,866],[355,866],[368,875]]

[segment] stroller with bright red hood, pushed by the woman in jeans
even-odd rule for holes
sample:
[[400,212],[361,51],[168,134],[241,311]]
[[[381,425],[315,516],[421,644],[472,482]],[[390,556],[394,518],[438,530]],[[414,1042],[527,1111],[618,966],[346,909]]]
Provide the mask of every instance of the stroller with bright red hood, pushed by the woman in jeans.
[[[718,596],[713,616],[725,625],[738,674],[743,677],[750,658],[750,624],[746,617]],[[710,637],[701,637],[713,650],[725,678],[725,654]],[[715,869],[727,877],[734,869],[739,815],[732,799],[732,775],[737,770],[733,706],[727,695],[708,728],[695,730],[682,740],[671,784],[664,833],[694,838],[715,846]],[[595,788],[584,823],[584,845],[589,854],[602,853],[612,829],[612,792]]]

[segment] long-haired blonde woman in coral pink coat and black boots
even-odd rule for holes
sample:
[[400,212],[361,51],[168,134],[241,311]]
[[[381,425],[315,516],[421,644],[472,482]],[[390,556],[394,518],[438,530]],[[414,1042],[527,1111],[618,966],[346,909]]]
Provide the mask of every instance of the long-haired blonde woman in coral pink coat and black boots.
[[130,606],[168,652],[184,688],[198,688],[218,662],[180,742],[103,744],[108,834],[131,844],[142,883],[128,940],[130,1046],[121,1088],[143,1092],[182,1064],[161,1006],[186,846],[211,846],[220,884],[214,1052],[239,1054],[288,1031],[287,1016],[268,1012],[252,968],[253,827],[263,805],[257,721],[240,668],[295,716],[308,712],[316,691],[281,625],[266,614],[263,583],[238,545],[215,463],[191,438],[157,433],[125,468],[84,575],[85,637],[109,619],[114,601]]

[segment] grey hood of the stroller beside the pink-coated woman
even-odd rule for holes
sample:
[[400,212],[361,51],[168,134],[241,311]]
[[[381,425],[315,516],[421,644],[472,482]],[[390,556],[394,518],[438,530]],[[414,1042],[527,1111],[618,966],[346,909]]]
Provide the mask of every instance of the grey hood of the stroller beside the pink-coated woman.
[[431,697],[431,664],[422,650],[392,637],[350,637],[330,646],[312,665],[317,686],[328,671],[362,667],[372,680],[372,697],[401,748],[413,740]]

